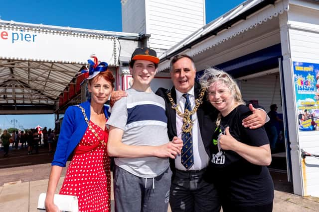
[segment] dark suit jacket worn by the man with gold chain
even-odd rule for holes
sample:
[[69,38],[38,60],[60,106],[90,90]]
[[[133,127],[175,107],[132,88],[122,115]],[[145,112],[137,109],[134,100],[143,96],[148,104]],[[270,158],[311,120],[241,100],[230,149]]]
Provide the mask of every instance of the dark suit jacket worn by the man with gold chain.
[[[200,84],[198,82],[195,82],[195,85],[194,85],[195,99],[199,97],[200,88],[201,88]],[[167,133],[168,133],[169,140],[171,141],[174,136],[177,136],[176,111],[171,108],[171,103],[169,102],[169,99],[167,96],[167,89],[159,88],[156,91],[156,94],[163,97],[165,100],[166,116],[167,116]],[[171,89],[171,97],[176,103],[175,87],[172,87]],[[205,146],[205,150],[208,156],[210,156],[211,153],[210,153],[209,146],[212,142],[212,137],[215,130],[215,120],[217,118],[218,111],[209,102],[205,101],[205,99],[206,99],[206,93],[203,98],[203,103],[198,107],[197,119],[199,123],[201,138]],[[174,163],[174,160],[172,159],[170,160],[170,168],[173,171],[173,176],[174,176],[175,163]]]

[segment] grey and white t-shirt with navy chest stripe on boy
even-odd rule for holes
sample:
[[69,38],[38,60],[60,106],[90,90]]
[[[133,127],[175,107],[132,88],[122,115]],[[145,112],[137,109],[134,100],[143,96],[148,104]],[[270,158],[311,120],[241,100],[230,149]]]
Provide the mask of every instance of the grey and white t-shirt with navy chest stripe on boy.
[[[127,90],[128,96],[117,101],[107,125],[124,130],[127,145],[159,146],[169,142],[165,102],[154,92]],[[169,166],[168,158],[115,158],[115,164],[143,178],[153,178]]]

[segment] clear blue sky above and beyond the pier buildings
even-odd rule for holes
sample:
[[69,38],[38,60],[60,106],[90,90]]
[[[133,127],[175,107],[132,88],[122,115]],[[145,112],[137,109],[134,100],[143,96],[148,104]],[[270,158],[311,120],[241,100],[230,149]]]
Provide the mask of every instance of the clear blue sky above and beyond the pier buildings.
[[[206,23],[214,20],[244,0],[206,0]],[[0,19],[17,22],[69,26],[84,29],[122,31],[120,0],[5,0]],[[0,128],[15,126],[54,128],[53,115],[0,115]]]

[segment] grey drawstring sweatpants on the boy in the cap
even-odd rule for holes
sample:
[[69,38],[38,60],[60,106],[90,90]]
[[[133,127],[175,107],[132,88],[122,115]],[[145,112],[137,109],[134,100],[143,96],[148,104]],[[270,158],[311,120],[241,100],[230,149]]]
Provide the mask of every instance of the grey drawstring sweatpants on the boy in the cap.
[[171,171],[141,178],[115,166],[115,212],[167,212]]

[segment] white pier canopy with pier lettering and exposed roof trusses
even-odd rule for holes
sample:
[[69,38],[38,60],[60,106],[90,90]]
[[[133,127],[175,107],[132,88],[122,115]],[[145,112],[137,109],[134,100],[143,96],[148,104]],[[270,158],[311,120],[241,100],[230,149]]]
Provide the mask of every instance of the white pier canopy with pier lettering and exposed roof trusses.
[[139,35],[0,20],[0,113],[21,113],[17,106],[44,106],[44,113],[53,113],[91,54],[118,66],[119,37]]

